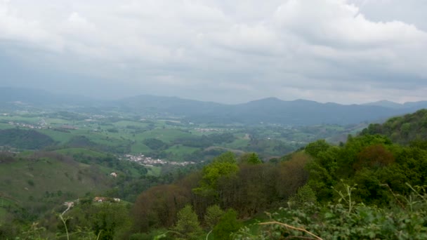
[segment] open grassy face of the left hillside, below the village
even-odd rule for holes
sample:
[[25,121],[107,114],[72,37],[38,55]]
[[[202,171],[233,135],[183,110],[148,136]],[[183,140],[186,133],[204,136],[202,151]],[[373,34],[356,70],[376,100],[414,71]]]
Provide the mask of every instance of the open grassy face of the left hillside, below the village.
[[[115,170],[48,158],[1,163],[0,194],[4,197],[0,204],[1,200],[14,199],[19,206],[39,209],[77,199],[87,192],[105,192],[114,181],[108,175],[112,171]],[[7,215],[4,209],[0,208],[0,222]]]

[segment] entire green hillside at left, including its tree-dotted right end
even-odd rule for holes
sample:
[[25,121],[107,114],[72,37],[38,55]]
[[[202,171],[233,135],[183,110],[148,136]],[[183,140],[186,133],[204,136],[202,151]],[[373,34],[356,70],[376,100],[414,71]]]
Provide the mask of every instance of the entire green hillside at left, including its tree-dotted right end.
[[125,178],[131,182],[146,173],[143,166],[88,149],[0,152],[0,225],[6,219],[34,220],[65,201],[103,196],[114,187],[126,191]]

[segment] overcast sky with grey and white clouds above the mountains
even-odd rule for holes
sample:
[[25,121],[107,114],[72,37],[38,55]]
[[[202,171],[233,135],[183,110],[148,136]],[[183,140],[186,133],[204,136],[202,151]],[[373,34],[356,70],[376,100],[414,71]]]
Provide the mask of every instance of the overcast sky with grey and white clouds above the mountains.
[[427,0],[0,0],[0,87],[427,100]]

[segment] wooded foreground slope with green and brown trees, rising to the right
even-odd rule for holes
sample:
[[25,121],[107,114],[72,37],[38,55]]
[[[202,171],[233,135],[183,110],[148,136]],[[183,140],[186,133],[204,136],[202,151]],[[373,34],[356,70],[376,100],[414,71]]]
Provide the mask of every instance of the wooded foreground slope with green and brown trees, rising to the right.
[[426,239],[426,119],[420,110],[270,161],[225,152],[169,178],[141,172],[103,202],[88,194],[67,211],[3,222],[0,238]]

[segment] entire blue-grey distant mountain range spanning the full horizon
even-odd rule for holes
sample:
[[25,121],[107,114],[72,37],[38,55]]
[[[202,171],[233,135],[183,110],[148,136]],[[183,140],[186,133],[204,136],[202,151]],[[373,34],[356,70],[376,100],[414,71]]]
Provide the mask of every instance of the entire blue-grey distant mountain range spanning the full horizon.
[[56,95],[27,88],[0,88],[0,107],[53,107],[73,110],[93,109],[132,112],[141,116],[180,117],[187,121],[210,124],[358,124],[362,121],[381,121],[418,109],[427,101],[399,104],[390,101],[363,105],[341,105],[310,100],[284,101],[265,98],[251,102],[225,105],[176,97],[140,95],[120,100],[93,100],[81,96]]

